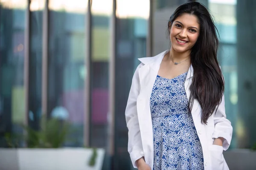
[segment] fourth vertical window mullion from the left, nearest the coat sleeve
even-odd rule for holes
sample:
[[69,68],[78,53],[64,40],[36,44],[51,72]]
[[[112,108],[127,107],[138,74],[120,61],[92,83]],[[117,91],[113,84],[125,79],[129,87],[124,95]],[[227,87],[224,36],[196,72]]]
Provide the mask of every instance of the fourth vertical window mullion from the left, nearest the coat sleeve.
[[109,154],[115,153],[115,65],[116,65],[116,0],[113,0],[113,9],[111,15],[111,36],[110,36],[110,59],[109,59],[109,117],[110,134],[109,134]]

